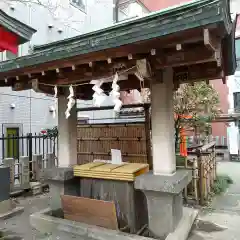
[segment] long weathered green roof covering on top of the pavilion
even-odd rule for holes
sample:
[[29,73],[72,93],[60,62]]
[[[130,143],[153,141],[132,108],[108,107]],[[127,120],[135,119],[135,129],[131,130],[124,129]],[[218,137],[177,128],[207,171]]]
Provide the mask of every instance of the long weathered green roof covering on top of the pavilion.
[[159,38],[211,24],[220,25],[223,35],[229,34],[232,23],[228,0],[196,0],[95,32],[38,46],[35,47],[32,55],[0,63],[0,73]]

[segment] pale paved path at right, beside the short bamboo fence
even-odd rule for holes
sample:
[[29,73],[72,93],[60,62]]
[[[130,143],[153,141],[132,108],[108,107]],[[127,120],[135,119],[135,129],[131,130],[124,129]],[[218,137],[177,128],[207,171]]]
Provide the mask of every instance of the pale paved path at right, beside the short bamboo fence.
[[240,239],[240,162],[220,162],[218,173],[231,176],[234,184],[200,213],[189,240]]

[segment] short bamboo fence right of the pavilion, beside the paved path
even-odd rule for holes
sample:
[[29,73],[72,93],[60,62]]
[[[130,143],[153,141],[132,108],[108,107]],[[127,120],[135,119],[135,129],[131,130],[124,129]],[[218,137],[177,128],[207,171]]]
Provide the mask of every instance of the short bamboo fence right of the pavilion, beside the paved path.
[[193,180],[184,190],[186,201],[194,200],[204,205],[212,193],[216,180],[216,152],[215,142],[203,146],[196,146],[188,152],[184,161],[178,161],[177,167],[192,170]]

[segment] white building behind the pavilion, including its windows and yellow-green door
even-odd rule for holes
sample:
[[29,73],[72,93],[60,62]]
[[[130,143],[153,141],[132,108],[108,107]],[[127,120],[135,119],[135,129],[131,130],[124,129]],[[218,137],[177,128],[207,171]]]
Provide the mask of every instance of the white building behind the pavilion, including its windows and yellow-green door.
[[[138,1],[120,2],[119,8],[114,5],[115,0],[40,2],[42,5],[31,1],[0,2],[1,10],[37,30],[30,42],[19,46],[17,56],[5,51],[0,53],[0,61],[27,55],[34,51],[36,45],[74,37],[115,24],[116,11],[119,22],[141,17],[148,12]],[[0,102],[0,135],[39,133],[42,129],[57,125],[57,119],[53,118],[54,99],[51,96],[33,90],[16,92],[11,88],[0,88]],[[104,104],[111,104],[111,99],[107,99]],[[92,106],[92,101],[78,101],[78,106]],[[86,114],[87,118],[113,117],[112,111]],[[86,114],[81,113],[79,117],[82,118]]]

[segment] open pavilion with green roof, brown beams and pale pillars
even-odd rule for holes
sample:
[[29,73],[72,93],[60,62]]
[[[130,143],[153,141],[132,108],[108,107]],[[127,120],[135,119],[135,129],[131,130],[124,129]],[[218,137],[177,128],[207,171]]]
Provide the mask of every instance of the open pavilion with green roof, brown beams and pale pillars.
[[[36,46],[32,55],[0,63],[1,86],[33,88],[58,98],[62,171],[77,164],[74,98],[94,96],[100,104],[104,93],[114,90],[113,81],[120,91],[139,89],[144,81],[152,95],[152,172],[137,177],[135,188],[146,195],[150,230],[165,237],[186,217],[181,192],[191,180],[190,172],[176,169],[173,91],[184,82],[221,79],[225,84],[236,67],[234,35],[228,0],[191,1]],[[99,80],[94,90],[92,80]],[[115,110],[121,105],[117,91]]]

